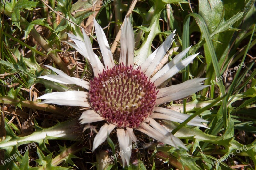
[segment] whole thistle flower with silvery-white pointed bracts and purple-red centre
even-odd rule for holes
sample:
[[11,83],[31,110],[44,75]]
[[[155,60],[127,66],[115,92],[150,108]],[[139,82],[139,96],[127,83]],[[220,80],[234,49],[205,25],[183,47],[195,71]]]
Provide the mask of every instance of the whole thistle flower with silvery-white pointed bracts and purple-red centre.
[[[120,151],[131,146],[132,141],[136,143],[137,138],[133,130],[138,130],[164,144],[187,149],[180,139],[169,133],[155,119],[179,123],[186,120],[190,115],[159,107],[159,105],[202,90],[207,87],[201,83],[206,78],[195,78],[179,85],[160,89],[158,87],[185,68],[199,53],[182,60],[191,48],[190,46],[151,77],[156,66],[171,47],[174,32],[136,68],[134,65],[134,32],[129,19],[125,18],[122,28],[119,65],[115,65],[107,38],[96,20],[94,20],[94,25],[105,67],[94,54],[91,41],[84,31],[83,39],[67,33],[75,44],[67,43],[87,58],[92,65],[94,78],[90,82],[70,77],[52,66],[47,67],[58,75],[40,77],[63,84],[76,84],[88,92],[52,92],[38,99],[44,99],[42,103],[88,107],[88,110],[84,111],[79,118],[81,124],[104,121],[105,124],[100,127],[94,138],[92,151],[102,144],[115,128]],[[187,125],[206,127],[201,122],[207,121],[196,116]],[[131,150],[121,155],[123,165],[125,161],[129,165],[130,157]]]

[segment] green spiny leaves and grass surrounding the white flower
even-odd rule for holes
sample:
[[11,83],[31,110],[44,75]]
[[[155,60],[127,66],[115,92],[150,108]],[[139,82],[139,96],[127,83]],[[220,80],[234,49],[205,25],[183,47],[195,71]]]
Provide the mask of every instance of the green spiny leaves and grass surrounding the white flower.
[[[136,41],[135,61],[140,64],[176,29],[177,36],[170,50],[177,47],[178,50],[168,56],[168,60],[190,45],[193,47],[186,57],[197,52],[201,55],[172,80],[178,83],[193,77],[208,77],[205,84],[211,86],[184,99],[184,104],[172,102],[167,106],[192,115],[182,124],[162,122],[183,140],[189,152],[165,145],[157,147],[156,141],[140,134],[143,147],[134,151],[131,165],[126,169],[254,169],[255,0],[189,2],[116,0],[100,6],[99,0],[3,1],[0,4],[0,158],[6,160],[32,142],[36,142],[37,147],[4,166],[0,164],[1,169],[121,168],[119,160],[107,165],[101,163],[101,159],[111,155],[108,150],[113,154],[118,150],[114,136],[108,138],[108,144],[99,153],[91,153],[94,135],[89,129],[94,127],[88,127],[89,133],[88,130],[82,133],[83,128],[77,123],[81,114],[78,108],[39,105],[40,101],[36,100],[43,93],[66,91],[71,87],[37,77],[50,73],[43,65],[51,64],[69,75],[90,79],[90,65],[79,54],[75,54],[75,60],[83,66],[82,71],[78,72],[76,65],[65,63],[63,58],[74,58],[74,49],[65,43],[68,40],[65,32],[82,36],[79,26],[90,26],[90,19],[95,17],[102,27],[108,26],[105,33],[112,44],[134,3],[130,19]],[[95,34],[91,40],[93,36]],[[97,48],[97,42],[92,42]],[[140,58],[136,57],[138,54]],[[118,61],[118,49],[114,56]],[[245,68],[238,68],[227,80],[211,84],[242,62]],[[35,64],[37,69],[33,70]],[[27,68],[32,71],[28,72]],[[19,72],[25,74],[12,82],[4,81]],[[186,126],[196,115],[209,121],[209,129]],[[146,143],[149,147],[144,147]],[[237,149],[244,146],[247,150],[237,153]],[[227,161],[212,164],[235,153]]]

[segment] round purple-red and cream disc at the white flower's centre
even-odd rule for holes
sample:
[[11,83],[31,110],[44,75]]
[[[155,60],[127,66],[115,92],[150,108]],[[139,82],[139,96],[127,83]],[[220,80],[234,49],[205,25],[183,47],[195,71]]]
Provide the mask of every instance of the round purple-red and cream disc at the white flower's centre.
[[90,82],[90,103],[108,123],[138,128],[156,103],[156,87],[133,66],[116,65]]

